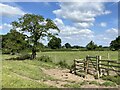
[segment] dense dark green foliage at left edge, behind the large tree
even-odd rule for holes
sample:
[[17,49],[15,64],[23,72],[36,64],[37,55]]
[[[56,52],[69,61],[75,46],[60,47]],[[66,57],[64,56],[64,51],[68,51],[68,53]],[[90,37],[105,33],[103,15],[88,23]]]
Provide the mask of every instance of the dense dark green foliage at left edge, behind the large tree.
[[2,53],[14,54],[29,46],[26,36],[16,30],[10,30],[6,35],[2,35]]

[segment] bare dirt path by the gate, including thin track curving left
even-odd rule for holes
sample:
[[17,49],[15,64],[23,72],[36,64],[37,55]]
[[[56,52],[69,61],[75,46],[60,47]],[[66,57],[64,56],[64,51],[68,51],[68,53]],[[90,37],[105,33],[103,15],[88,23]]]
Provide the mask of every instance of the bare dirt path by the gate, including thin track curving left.
[[[65,84],[74,84],[74,83],[80,83],[80,82],[84,82],[84,81],[87,81],[87,82],[96,81],[99,83],[105,82],[104,80],[101,80],[101,79],[94,79],[94,77],[91,75],[87,75],[86,78],[74,75],[72,73],[69,73],[68,69],[60,69],[60,68],[56,68],[56,69],[41,68],[41,69],[42,69],[43,73],[53,77],[55,80],[35,80],[35,79],[29,78],[27,76],[19,75],[15,72],[12,72],[12,73],[23,79],[27,79],[27,80],[31,80],[31,81],[35,81],[35,82],[39,82],[39,83],[44,83],[49,86],[54,86],[57,88],[64,88]],[[82,88],[86,88],[86,87],[87,88],[99,88],[99,87],[102,88],[102,86],[97,86],[94,84],[82,85],[81,87]]]

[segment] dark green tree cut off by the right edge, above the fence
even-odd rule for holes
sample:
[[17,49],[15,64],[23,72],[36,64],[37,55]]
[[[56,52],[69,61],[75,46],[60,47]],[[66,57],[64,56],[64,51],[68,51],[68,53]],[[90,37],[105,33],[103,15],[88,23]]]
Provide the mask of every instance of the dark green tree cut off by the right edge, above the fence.
[[110,43],[111,50],[120,50],[120,36]]

